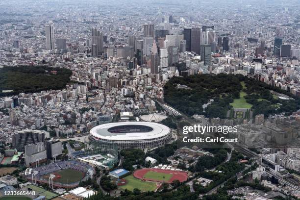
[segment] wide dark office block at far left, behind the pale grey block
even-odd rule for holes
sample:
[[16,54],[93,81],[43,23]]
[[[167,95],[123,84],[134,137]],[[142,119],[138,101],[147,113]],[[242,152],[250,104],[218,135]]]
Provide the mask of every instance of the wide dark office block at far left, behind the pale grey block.
[[31,143],[43,142],[45,143],[45,138],[49,138],[49,133],[46,134],[46,131],[43,130],[22,130],[17,131],[12,134],[11,140],[12,145],[18,151],[24,152],[24,147]]

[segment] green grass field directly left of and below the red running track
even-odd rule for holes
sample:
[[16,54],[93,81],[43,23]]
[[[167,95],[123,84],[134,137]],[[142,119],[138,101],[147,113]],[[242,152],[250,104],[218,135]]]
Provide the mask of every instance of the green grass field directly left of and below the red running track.
[[119,186],[122,189],[133,191],[134,188],[138,188],[141,192],[154,191],[156,189],[156,183],[142,181],[141,179],[135,178],[133,175],[128,175],[124,179],[127,183],[126,185]]

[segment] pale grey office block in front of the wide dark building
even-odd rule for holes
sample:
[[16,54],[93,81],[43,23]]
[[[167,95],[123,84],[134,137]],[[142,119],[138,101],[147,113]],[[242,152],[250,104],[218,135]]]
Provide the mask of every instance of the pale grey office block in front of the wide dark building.
[[[47,152],[44,142],[25,145],[25,163],[27,167],[37,167],[47,162]],[[61,150],[61,146],[60,146]]]

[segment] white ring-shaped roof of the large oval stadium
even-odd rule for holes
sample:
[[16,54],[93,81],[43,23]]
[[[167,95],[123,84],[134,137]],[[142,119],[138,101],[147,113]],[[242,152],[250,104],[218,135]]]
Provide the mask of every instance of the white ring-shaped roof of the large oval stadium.
[[[128,125],[140,125],[146,126],[147,131],[140,131],[141,127],[133,127],[128,129],[130,132],[110,132],[109,129],[117,126],[128,126]],[[91,129],[90,133],[92,136],[105,140],[147,140],[163,137],[170,133],[170,128],[152,122],[120,122],[120,123],[109,123],[95,126]]]

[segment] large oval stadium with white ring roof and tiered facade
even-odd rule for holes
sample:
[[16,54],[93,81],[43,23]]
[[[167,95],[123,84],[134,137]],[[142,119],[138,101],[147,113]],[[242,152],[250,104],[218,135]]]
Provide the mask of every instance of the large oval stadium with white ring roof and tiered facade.
[[95,126],[89,139],[99,145],[116,145],[118,149],[154,148],[170,143],[171,129],[152,122],[120,122]]

